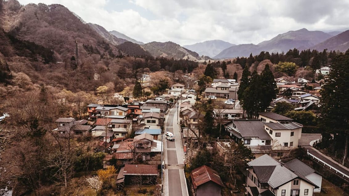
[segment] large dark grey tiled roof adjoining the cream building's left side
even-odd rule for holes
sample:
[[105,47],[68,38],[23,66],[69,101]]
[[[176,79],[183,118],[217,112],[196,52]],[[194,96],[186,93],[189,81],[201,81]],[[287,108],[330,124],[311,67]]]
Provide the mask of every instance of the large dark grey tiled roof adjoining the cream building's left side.
[[258,137],[261,140],[272,140],[272,137],[264,130],[264,125],[260,120],[240,120],[233,121],[243,138]]

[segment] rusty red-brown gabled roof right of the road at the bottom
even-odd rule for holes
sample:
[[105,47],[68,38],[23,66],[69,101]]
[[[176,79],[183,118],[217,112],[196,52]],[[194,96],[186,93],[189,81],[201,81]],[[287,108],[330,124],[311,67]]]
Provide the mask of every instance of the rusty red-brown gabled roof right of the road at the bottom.
[[222,187],[224,186],[218,173],[206,165],[194,169],[190,176],[195,189],[208,181],[213,181]]

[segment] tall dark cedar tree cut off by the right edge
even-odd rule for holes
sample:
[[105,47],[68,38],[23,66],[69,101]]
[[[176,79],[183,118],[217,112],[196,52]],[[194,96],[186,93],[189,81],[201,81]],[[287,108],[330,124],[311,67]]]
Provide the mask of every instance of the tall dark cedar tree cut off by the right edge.
[[[349,131],[349,49],[332,63],[326,83],[321,91],[321,118],[328,130],[342,135],[345,143],[343,162],[347,158]],[[340,141],[337,141],[340,142]]]

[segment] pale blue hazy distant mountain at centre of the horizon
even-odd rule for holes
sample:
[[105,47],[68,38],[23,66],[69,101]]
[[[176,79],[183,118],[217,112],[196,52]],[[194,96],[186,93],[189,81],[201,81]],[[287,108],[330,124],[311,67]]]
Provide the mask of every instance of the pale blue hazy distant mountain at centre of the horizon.
[[185,45],[184,48],[195,51],[200,56],[209,56],[214,57],[224,49],[229,48],[230,46],[235,46],[235,44],[231,44],[222,40],[209,40],[204,42],[199,42],[193,45]]

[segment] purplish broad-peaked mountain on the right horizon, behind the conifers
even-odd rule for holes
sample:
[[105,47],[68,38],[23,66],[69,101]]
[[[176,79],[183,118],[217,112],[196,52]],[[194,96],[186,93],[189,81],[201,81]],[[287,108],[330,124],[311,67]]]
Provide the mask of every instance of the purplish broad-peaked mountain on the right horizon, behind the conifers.
[[330,34],[322,31],[308,31],[307,29],[299,29],[297,31],[288,31],[277,35],[276,37],[262,41],[258,45],[242,44],[231,46],[223,50],[214,58],[232,58],[237,56],[249,56],[259,54],[261,51],[269,53],[287,52],[290,49],[298,48],[300,50],[308,49],[332,37]]

